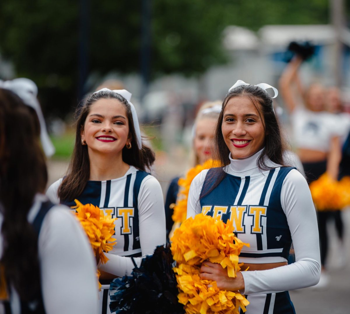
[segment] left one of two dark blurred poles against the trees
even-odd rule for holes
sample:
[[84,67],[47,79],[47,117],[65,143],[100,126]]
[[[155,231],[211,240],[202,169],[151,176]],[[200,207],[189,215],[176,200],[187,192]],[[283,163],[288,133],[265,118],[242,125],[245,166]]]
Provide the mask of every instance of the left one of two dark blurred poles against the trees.
[[79,3],[78,101],[84,98],[89,58],[89,0]]

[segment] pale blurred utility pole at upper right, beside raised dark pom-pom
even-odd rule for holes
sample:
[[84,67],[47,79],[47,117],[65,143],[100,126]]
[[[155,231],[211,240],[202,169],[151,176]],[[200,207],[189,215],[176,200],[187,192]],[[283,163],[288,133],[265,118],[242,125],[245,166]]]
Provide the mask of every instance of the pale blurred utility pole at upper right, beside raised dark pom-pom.
[[334,78],[337,87],[342,85],[342,31],[345,28],[345,4],[344,0],[329,0],[330,18],[334,27],[336,41],[334,44]]

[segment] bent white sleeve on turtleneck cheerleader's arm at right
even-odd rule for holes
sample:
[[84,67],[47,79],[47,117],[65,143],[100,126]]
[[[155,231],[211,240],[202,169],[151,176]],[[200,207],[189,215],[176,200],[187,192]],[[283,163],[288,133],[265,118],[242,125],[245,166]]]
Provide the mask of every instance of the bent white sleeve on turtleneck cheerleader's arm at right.
[[295,263],[269,270],[242,272],[245,294],[300,289],[313,286],[320,280],[316,212],[306,180],[297,170],[291,170],[283,182],[281,205],[292,235]]

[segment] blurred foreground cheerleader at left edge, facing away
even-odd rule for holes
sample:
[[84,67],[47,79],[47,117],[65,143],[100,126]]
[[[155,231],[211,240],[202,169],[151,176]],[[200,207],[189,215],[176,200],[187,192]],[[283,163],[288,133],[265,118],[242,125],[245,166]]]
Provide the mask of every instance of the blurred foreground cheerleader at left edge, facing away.
[[94,314],[91,245],[66,207],[43,194],[47,169],[38,139],[46,130],[32,110],[36,86],[27,79],[0,86],[0,313]]

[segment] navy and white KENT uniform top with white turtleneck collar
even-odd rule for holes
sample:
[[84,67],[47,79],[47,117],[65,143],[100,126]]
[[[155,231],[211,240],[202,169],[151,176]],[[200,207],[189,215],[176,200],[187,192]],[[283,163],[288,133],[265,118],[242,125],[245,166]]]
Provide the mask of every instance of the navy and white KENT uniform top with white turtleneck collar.
[[[233,221],[243,247],[239,262],[264,264],[287,262],[293,241],[296,262],[275,269],[242,272],[245,294],[271,293],[315,285],[320,276],[320,248],[316,212],[308,184],[291,167],[271,160],[271,170],[260,170],[261,151],[245,159],[232,159],[224,167],[223,181],[200,199],[208,171],[192,181],[187,217],[203,213]],[[205,185],[204,185],[205,186]],[[205,192],[205,191],[203,191]]]

